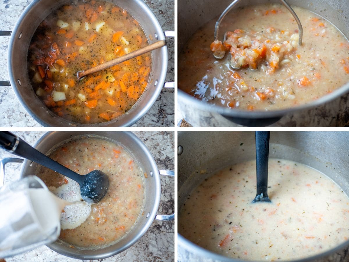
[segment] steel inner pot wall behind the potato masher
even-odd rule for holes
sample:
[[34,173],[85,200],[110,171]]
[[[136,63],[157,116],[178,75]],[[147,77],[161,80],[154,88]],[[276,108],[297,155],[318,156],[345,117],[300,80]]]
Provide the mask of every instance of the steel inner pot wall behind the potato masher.
[[[211,1],[202,0],[178,0],[178,50],[181,50],[192,34],[207,21],[221,15],[223,10],[231,3],[231,0]],[[325,17],[333,23],[347,38],[349,36],[349,1],[302,1],[288,0],[290,5],[308,9]],[[237,7],[256,5],[258,3],[281,3],[278,0],[244,0]],[[195,19],[193,19],[195,17]],[[295,27],[297,25],[295,24]],[[212,28],[214,32],[214,28]],[[220,32],[223,39],[224,32]],[[213,41],[214,39],[212,39]]]

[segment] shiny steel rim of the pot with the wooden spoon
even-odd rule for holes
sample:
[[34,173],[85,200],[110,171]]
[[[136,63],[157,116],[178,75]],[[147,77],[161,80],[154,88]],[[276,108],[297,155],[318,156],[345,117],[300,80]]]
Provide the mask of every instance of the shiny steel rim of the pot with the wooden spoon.
[[[12,53],[16,52],[16,50],[13,49],[13,46],[14,46],[14,42],[19,37],[18,36],[18,29],[20,27],[20,24],[22,23],[22,20],[25,18],[25,16],[28,14],[28,12],[40,1],[41,0],[34,0],[24,9],[23,13],[18,18],[18,20],[17,20],[17,22],[16,22],[16,24],[15,24],[13,30],[12,30],[12,33],[11,33],[11,36],[10,36],[10,40],[9,40],[9,43],[8,43],[7,70],[8,70],[9,81],[11,83],[12,89],[15,92],[17,100],[20,102],[20,104],[25,109],[25,111],[27,111],[29,113],[29,115],[32,118],[34,118],[34,120],[36,122],[38,122],[40,125],[42,125],[42,126],[53,126],[50,123],[47,123],[46,121],[44,121],[41,118],[39,118],[36,115],[36,113],[29,107],[29,105],[24,102],[24,100],[22,99],[21,94],[19,92],[20,88],[17,87],[17,80],[14,78],[13,73],[12,73],[12,71],[13,71],[12,70],[12,66],[13,66],[13,63],[12,63]],[[110,2],[111,0],[105,0],[105,1]],[[144,13],[146,13],[147,16],[150,17],[150,20],[153,21],[154,27],[157,30],[157,32],[156,32],[156,34],[158,36],[157,40],[164,40],[165,39],[164,31],[162,30],[162,27],[161,27],[158,19],[156,18],[154,13],[150,10],[150,8],[142,0],[132,0],[132,1],[137,2],[138,5],[140,5],[142,7],[142,10],[144,11]],[[53,12],[53,10],[52,10],[52,12]],[[155,89],[153,91],[153,95],[150,97],[150,99],[149,99],[148,103],[146,104],[146,106],[143,107],[143,108],[139,107],[139,109],[137,111],[137,114],[133,118],[128,119],[124,124],[118,125],[117,124],[118,123],[118,118],[112,119],[111,121],[102,122],[102,123],[96,123],[96,124],[81,124],[81,123],[75,123],[75,122],[67,121],[66,119],[60,117],[61,119],[64,120],[64,122],[62,123],[61,126],[81,126],[81,127],[119,126],[119,127],[124,127],[124,126],[131,126],[134,123],[136,123],[153,106],[153,104],[155,103],[156,99],[158,98],[158,96],[159,96],[159,94],[160,94],[160,92],[161,92],[161,90],[163,88],[164,82],[165,82],[165,78],[166,78],[166,74],[167,74],[167,66],[168,66],[167,45],[163,46],[159,50],[161,50],[163,59],[162,59],[161,73],[159,74],[159,77],[157,79],[157,86],[155,87]],[[27,61],[27,59],[25,59],[25,61]],[[150,85],[150,83],[148,83],[148,85]],[[147,85],[147,87],[148,87],[148,85]],[[32,88],[31,85],[30,85],[30,87]],[[146,89],[147,89],[147,87],[146,87]],[[138,101],[136,101],[136,103],[137,102]],[[134,105],[132,107],[134,107]],[[47,110],[49,110],[49,109],[47,109]],[[128,114],[128,112],[126,112],[122,116],[124,116],[126,114]],[[56,117],[59,117],[59,116],[56,116]]]

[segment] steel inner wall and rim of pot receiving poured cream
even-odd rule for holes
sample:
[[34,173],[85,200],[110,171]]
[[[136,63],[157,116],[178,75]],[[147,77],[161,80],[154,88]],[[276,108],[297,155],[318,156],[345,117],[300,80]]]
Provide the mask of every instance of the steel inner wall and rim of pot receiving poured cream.
[[[121,240],[98,249],[70,248],[68,243],[57,240],[49,245],[54,251],[78,259],[101,259],[117,254],[136,242],[149,228],[153,222],[159,204],[160,197],[160,178],[158,169],[148,149],[132,133],[129,132],[52,132],[47,133],[38,141],[35,148],[44,154],[49,154],[62,144],[71,140],[83,137],[96,137],[111,141],[123,146],[134,157],[138,166],[142,168],[142,174],[147,172],[148,177],[143,179],[144,182],[144,203],[140,217],[137,219],[131,231],[128,232]],[[21,176],[36,174],[40,166],[31,161],[25,160],[21,170]],[[151,176],[153,172],[153,176]],[[149,214],[148,214],[149,213]]]

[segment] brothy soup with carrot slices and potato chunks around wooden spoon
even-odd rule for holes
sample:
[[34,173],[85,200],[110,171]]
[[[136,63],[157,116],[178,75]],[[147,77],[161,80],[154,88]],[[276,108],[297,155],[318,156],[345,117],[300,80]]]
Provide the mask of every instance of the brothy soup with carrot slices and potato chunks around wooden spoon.
[[77,80],[76,73],[148,45],[127,10],[75,1],[46,17],[28,53],[29,77],[55,114],[76,123],[110,121],[129,110],[149,80],[150,54]]

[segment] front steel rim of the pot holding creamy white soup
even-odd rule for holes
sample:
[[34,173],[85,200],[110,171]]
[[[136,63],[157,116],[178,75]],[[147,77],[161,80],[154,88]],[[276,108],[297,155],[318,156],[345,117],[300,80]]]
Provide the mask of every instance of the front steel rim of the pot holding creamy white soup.
[[[217,253],[211,252],[205,248],[202,248],[196,244],[194,244],[193,242],[191,242],[190,240],[186,239],[184,236],[182,236],[181,234],[178,233],[178,245],[183,248],[188,250],[189,252],[195,254],[195,255],[199,255],[201,257],[207,257],[209,259],[213,259],[215,261],[229,261],[229,262],[240,262],[240,261],[246,261],[246,260],[241,260],[241,259],[234,259],[231,257],[227,257],[227,256],[222,256],[219,255]],[[331,248],[325,252],[322,252],[320,254],[317,255],[313,255],[310,257],[306,257],[304,259],[299,259],[299,260],[288,260],[288,262],[306,262],[306,261],[313,261],[316,259],[321,259],[324,258],[328,255],[334,254],[336,251],[339,251],[341,249],[344,249],[346,247],[349,246],[349,240],[343,242],[342,244],[340,244],[339,246],[336,246],[334,248]]]

